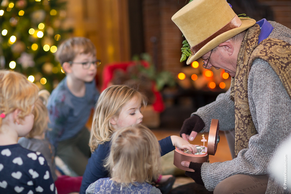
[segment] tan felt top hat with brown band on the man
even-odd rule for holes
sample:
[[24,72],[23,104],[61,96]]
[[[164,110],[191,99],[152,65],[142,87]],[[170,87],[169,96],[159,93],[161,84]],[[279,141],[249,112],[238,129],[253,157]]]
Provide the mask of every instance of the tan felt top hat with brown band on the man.
[[226,0],[193,0],[172,17],[188,41],[192,63],[220,43],[255,24],[254,19],[239,18]]

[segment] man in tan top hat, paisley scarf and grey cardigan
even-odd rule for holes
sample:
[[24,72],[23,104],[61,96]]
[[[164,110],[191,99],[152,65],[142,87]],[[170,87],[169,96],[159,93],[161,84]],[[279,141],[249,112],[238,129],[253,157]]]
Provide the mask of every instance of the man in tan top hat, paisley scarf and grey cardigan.
[[191,47],[187,64],[201,57],[204,68],[222,68],[232,76],[230,89],[192,113],[180,135],[193,140],[209,131],[212,118],[219,119],[220,130],[235,129],[235,158],[183,161],[195,170],[186,175],[214,193],[283,193],[268,164],[291,134],[291,30],[239,18],[226,0],[191,1],[172,20]]

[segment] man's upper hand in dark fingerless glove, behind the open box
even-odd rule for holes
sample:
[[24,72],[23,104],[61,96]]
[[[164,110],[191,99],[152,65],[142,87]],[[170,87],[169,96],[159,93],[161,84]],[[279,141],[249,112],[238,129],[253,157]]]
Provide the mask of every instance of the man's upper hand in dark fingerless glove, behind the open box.
[[190,118],[184,120],[182,125],[180,136],[184,140],[193,141],[200,132],[205,127],[203,120],[198,115],[193,115]]

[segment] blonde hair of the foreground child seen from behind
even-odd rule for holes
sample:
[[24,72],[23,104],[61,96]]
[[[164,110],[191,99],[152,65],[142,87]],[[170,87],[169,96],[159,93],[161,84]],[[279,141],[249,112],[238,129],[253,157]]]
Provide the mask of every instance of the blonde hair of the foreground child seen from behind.
[[151,182],[161,174],[160,145],[142,124],[113,133],[110,154],[104,165],[111,178],[122,183]]

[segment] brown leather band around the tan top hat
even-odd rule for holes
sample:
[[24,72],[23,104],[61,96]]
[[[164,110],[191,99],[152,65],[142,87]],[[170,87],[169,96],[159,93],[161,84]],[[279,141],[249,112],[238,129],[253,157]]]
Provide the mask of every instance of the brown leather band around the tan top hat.
[[225,33],[226,31],[229,31],[229,30],[234,29],[234,28],[238,28],[241,25],[242,25],[242,21],[239,19],[239,17],[237,15],[235,15],[235,17],[232,20],[230,20],[230,22],[228,22],[221,29],[216,31],[214,34],[212,34],[210,37],[206,38],[202,42],[191,47],[192,55],[194,55],[197,51],[199,51],[202,47],[204,47],[212,39],[216,38],[217,36],[221,35],[222,33]]

